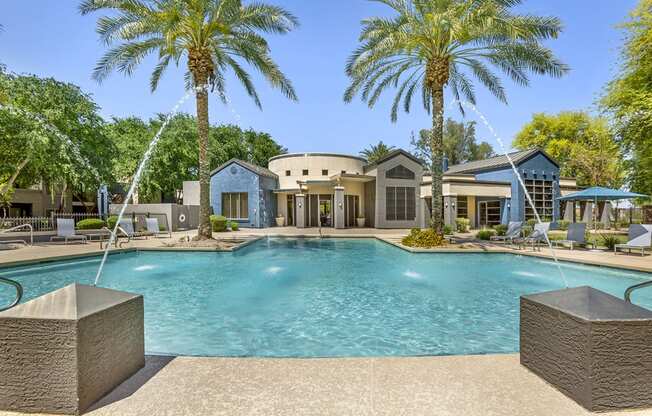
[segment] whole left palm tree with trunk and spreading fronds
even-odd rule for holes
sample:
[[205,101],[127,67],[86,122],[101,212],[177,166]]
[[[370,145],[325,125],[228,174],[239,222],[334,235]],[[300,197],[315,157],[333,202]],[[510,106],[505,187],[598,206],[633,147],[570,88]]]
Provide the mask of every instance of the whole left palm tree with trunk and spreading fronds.
[[246,63],[292,100],[291,82],[270,56],[265,33],[286,34],[297,19],[281,7],[241,0],[85,0],[82,14],[106,10],[97,32],[107,45],[116,46],[99,60],[93,72],[102,81],[117,69],[131,75],[150,53],[158,64],[151,75],[154,91],[170,64],[185,60],[186,85],[195,91],[199,144],[199,239],[212,237],[210,215],[210,166],[208,158],[208,92],[217,91],[226,102],[225,74],[231,70],[258,107],[258,94]]

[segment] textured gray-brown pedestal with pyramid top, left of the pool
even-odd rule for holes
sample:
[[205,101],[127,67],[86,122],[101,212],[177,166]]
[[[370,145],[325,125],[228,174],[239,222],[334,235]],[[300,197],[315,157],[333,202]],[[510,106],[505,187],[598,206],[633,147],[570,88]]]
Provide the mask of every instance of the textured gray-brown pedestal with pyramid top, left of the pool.
[[0,313],[0,410],[79,414],[145,365],[143,297],[72,284]]

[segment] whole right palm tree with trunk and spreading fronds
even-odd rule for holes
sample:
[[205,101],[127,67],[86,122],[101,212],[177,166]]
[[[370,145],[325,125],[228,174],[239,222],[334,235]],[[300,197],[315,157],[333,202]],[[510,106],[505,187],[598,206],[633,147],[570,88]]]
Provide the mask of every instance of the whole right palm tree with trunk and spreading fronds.
[[358,93],[373,107],[388,87],[398,88],[391,109],[396,121],[401,102],[410,111],[415,94],[432,114],[431,226],[442,231],[442,148],[444,88],[461,106],[460,97],[475,104],[472,74],[500,101],[507,102],[497,67],[520,85],[528,72],[562,76],[567,67],[541,45],[556,38],[561,23],[554,17],[518,15],[510,7],[521,0],[374,0],[391,7],[392,18],[373,17],[362,23],[361,45],[346,72],[351,85],[344,100]]

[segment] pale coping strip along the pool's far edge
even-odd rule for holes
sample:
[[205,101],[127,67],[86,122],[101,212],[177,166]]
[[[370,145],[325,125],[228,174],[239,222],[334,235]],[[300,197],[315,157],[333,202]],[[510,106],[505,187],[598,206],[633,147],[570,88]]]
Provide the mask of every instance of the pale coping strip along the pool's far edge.
[[[537,257],[541,259],[546,259],[550,261],[554,261],[553,257],[549,254],[545,254],[543,252],[537,252],[537,251],[527,251],[527,250],[519,250],[519,251],[514,251],[511,249],[508,249],[507,247],[501,247],[501,246],[496,246],[496,245],[485,245],[483,248],[434,248],[434,249],[425,249],[425,248],[413,248],[413,247],[407,247],[401,244],[400,242],[397,241],[392,241],[390,238],[387,238],[386,236],[378,236],[374,234],[356,234],[356,235],[347,235],[347,236],[341,236],[341,235],[324,235],[324,236],[319,236],[319,235],[314,235],[314,234],[296,234],[292,236],[288,236],[286,234],[266,234],[266,235],[259,235],[259,236],[251,236],[250,238],[246,239],[243,241],[241,244],[238,244],[234,247],[230,248],[203,248],[203,247],[128,247],[128,248],[116,248],[112,249],[109,251],[109,255],[114,255],[114,254],[125,254],[125,253],[130,253],[130,252],[138,252],[138,251],[146,251],[146,252],[200,252],[200,253],[233,253],[238,250],[241,250],[255,242],[258,242],[262,239],[265,238],[282,238],[282,239],[375,239],[377,241],[389,244],[393,247],[399,248],[401,250],[407,251],[412,254],[512,254],[516,256],[529,256],[529,257]],[[26,266],[26,265],[32,265],[32,264],[39,264],[39,263],[51,263],[55,261],[62,261],[62,260],[74,260],[74,259],[80,259],[80,258],[87,258],[87,257],[96,257],[98,255],[103,254],[103,250],[94,250],[94,251],[89,251],[87,253],[78,253],[78,254],[62,254],[62,255],[52,255],[48,257],[41,257],[41,258],[36,258],[36,259],[25,259],[25,260],[17,260],[17,261],[7,261],[7,262],[0,262],[0,270],[4,268],[10,268],[10,267],[19,267],[19,266]],[[609,254],[605,252],[605,254]],[[582,265],[588,265],[588,266],[596,266],[596,267],[606,267],[609,269],[615,269],[615,270],[627,270],[627,271],[632,271],[632,272],[639,272],[639,273],[652,273],[652,267],[645,267],[645,266],[639,266],[639,265],[614,265],[609,262],[602,262],[599,260],[593,260],[593,259],[574,259],[574,258],[559,258],[558,259],[560,262],[567,262],[567,263],[574,263],[574,264],[582,264]]]

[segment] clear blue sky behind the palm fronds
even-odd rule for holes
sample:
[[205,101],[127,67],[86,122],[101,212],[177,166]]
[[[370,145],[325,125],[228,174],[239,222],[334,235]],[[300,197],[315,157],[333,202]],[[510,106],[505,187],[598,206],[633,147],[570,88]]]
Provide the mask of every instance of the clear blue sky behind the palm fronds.
[[[429,127],[429,116],[420,105],[391,123],[392,95],[386,95],[373,110],[359,101],[342,101],[347,86],[344,65],[357,45],[360,20],[387,13],[385,6],[367,0],[267,1],[286,7],[301,22],[297,31],[270,38],[272,54],[293,81],[300,101],[289,102],[256,77],[261,112],[231,80],[227,88],[232,110],[211,98],[211,123],[237,123],[267,131],[291,152],[344,153],[357,153],[378,140],[409,149],[410,132]],[[148,81],[153,59],[143,62],[131,78],[116,73],[102,85],[91,79],[105,50],[95,34],[99,15],[82,17],[77,4],[74,0],[5,0],[0,15],[5,27],[0,35],[0,62],[14,72],[52,76],[81,86],[93,94],[106,117],[148,118],[169,111],[184,93],[181,70],[166,73],[154,94],[149,92]],[[505,79],[508,106],[478,86],[478,108],[507,142],[534,112],[593,110],[617,69],[622,33],[616,25],[635,4],[636,0],[525,0],[521,11],[562,19],[565,30],[549,46],[572,72],[563,79],[533,77],[529,88]],[[183,111],[194,113],[194,101]],[[447,115],[461,118],[453,107],[447,108]],[[482,127],[478,137],[497,146]]]

